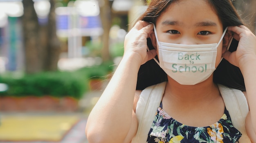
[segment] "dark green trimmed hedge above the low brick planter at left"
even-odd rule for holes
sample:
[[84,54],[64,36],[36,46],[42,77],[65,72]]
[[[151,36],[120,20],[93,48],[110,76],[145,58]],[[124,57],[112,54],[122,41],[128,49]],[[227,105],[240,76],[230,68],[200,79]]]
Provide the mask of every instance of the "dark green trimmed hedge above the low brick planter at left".
[[25,75],[15,79],[11,76],[2,77],[1,83],[6,83],[9,89],[1,95],[7,96],[44,96],[54,97],[71,96],[80,98],[85,92],[86,82],[83,75],[71,72],[45,72],[34,75]]

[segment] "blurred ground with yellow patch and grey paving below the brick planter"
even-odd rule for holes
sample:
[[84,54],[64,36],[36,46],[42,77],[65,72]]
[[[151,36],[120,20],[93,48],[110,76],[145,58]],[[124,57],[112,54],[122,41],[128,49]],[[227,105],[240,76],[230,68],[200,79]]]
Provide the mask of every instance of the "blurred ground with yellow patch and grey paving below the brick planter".
[[[86,93],[75,113],[1,112],[0,143],[88,143],[85,136],[87,117],[102,92],[96,90]],[[11,140],[4,140],[7,136]]]

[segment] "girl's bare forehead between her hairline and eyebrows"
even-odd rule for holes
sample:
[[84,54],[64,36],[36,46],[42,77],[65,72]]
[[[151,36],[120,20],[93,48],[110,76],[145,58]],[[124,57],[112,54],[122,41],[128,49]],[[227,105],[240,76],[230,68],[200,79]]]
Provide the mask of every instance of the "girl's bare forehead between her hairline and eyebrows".
[[166,22],[166,20],[173,21],[181,26],[196,24],[202,21],[221,25],[216,11],[207,0],[174,1],[159,15],[157,24],[159,22]]

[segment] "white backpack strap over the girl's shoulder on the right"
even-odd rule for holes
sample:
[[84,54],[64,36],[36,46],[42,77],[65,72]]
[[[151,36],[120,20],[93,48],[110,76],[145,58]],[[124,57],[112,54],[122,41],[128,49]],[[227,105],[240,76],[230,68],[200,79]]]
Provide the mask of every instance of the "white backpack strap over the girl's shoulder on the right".
[[242,133],[239,142],[251,143],[245,130],[245,118],[249,112],[245,95],[238,89],[232,89],[224,85],[218,85],[218,87],[234,127]]

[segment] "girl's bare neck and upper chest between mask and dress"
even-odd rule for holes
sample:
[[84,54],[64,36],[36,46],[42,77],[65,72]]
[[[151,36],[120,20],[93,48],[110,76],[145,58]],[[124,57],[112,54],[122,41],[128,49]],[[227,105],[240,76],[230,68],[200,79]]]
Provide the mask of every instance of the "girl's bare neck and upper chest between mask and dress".
[[197,85],[180,85],[169,79],[162,106],[176,121],[193,127],[205,127],[218,122],[225,109],[212,76]]

